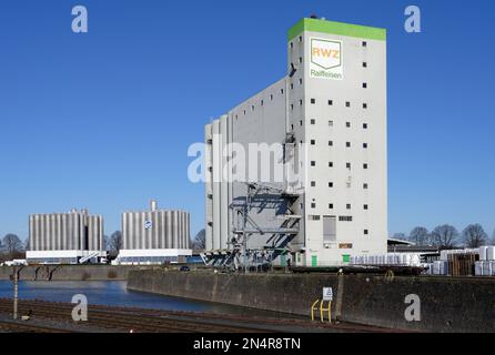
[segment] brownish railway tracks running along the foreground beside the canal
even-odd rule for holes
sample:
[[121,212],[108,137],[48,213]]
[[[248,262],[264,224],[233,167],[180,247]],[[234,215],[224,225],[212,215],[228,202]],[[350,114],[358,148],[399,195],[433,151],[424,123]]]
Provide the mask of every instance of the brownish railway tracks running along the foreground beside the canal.
[[[19,302],[20,312],[32,311],[33,316],[48,320],[72,322],[72,304],[46,301]],[[12,300],[0,298],[0,313],[11,313]],[[320,332],[390,333],[386,329],[348,323],[315,323],[302,318],[270,318],[211,313],[173,312],[134,307],[89,306],[85,324],[105,328],[145,333],[260,333],[284,329],[313,329]],[[286,332],[286,331],[285,331]]]

